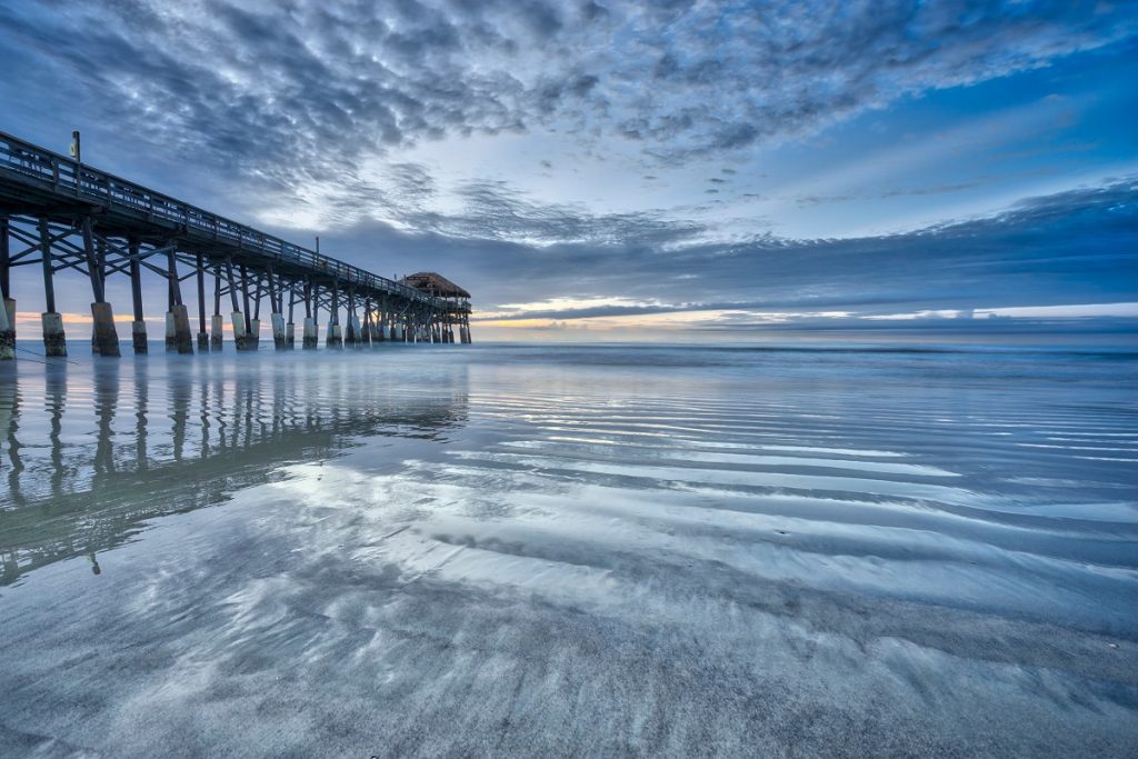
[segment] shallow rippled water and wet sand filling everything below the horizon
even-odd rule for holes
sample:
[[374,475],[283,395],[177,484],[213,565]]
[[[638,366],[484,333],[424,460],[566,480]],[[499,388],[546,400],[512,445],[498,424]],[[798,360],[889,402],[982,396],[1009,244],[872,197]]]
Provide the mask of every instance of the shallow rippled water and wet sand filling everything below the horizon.
[[1133,354],[20,355],[2,756],[1138,746]]

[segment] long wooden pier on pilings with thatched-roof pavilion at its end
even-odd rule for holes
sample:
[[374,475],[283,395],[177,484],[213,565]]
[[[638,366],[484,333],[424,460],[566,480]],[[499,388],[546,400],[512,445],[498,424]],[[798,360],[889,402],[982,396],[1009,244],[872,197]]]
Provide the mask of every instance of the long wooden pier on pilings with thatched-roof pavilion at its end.
[[302,348],[316,348],[321,313],[328,348],[471,341],[470,295],[438,274],[377,277],[0,132],[0,360],[15,357],[11,269],[35,264],[43,273],[48,356],[67,355],[55,290],[66,270],[90,281],[92,349],[102,356],[121,353],[107,302],[112,275],[130,278],[131,344],[134,353],[148,350],[143,270],[166,280],[172,352],[195,349],[187,288],[196,295],[198,352],[222,349],[223,304],[238,350],[259,347],[263,303],[278,350],[295,347],[295,319]]

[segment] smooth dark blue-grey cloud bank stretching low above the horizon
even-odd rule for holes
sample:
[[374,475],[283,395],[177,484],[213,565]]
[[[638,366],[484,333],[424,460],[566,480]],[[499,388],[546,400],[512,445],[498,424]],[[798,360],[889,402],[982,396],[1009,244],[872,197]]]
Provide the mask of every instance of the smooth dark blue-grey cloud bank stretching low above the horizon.
[[684,245],[690,234],[683,226],[665,225],[650,242],[629,237],[613,244],[535,247],[412,236],[368,223],[338,244],[364,264],[411,259],[445,270],[477,291],[487,307],[587,296],[665,304],[529,314],[546,319],[693,308],[892,314],[1121,303],[1138,292],[1135,180],[1033,198],[991,217],[883,237],[762,237],[741,245]]

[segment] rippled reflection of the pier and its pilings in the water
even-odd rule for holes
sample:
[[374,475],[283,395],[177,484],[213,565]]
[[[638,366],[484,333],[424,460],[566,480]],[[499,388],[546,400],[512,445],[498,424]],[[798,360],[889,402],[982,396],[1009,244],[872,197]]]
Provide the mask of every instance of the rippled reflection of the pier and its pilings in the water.
[[[358,356],[140,360],[0,377],[0,585],[98,553],[147,520],[224,501],[361,436],[437,438],[467,421],[467,370],[419,381]],[[351,403],[345,402],[351,398]]]

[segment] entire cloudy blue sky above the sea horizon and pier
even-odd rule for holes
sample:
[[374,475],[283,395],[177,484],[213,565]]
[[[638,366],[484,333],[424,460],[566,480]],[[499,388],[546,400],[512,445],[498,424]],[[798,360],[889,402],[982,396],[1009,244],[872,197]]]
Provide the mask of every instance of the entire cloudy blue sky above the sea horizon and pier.
[[1133,2],[0,0],[0,130],[476,339],[1132,339],[1135,114]]

